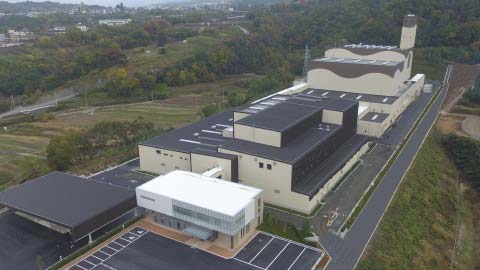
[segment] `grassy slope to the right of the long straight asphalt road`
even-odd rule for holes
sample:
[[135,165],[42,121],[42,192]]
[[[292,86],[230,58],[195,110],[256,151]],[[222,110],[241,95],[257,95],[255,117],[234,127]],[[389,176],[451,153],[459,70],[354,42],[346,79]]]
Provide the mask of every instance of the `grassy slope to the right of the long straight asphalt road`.
[[[471,218],[469,211],[464,209],[470,209],[467,204],[457,205],[456,182],[455,167],[432,131],[393,198],[358,269],[449,269],[456,238],[457,207],[463,221]],[[473,252],[463,248],[475,243],[473,234],[468,233],[472,227],[465,226],[465,230],[462,252],[455,259],[458,261],[464,261],[463,258]],[[468,267],[461,269],[474,269],[472,264]]]

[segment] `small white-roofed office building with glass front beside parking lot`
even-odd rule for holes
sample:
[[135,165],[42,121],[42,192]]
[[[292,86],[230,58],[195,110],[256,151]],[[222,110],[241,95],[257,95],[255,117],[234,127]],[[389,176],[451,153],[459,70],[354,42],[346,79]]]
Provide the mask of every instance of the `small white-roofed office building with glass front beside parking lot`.
[[136,189],[138,206],[155,222],[234,249],[263,220],[262,191],[186,171],[159,176]]

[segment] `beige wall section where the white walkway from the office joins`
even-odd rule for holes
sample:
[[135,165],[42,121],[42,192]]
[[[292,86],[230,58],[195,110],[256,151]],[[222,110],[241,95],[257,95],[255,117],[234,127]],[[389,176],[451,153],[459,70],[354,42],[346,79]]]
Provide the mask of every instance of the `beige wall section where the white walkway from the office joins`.
[[229,159],[222,159],[218,157],[205,156],[200,154],[191,154],[192,158],[192,172],[203,173],[214,167],[221,167],[223,171],[220,172],[222,179],[232,181],[232,161]]

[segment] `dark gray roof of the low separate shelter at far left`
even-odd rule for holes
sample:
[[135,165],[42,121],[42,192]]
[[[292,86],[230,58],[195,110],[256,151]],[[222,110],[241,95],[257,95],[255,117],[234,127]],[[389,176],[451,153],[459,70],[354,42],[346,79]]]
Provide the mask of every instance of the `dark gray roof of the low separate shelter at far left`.
[[133,190],[52,172],[0,193],[0,204],[70,228],[77,241],[136,207]]

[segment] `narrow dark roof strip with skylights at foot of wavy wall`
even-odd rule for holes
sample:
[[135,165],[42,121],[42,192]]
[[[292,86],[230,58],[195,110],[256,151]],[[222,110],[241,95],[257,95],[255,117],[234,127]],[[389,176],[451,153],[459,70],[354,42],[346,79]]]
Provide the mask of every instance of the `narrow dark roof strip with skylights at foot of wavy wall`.
[[320,97],[333,97],[346,100],[354,101],[363,101],[370,103],[381,103],[381,104],[393,104],[398,97],[395,96],[382,96],[382,95],[370,95],[370,94],[361,94],[361,93],[352,93],[347,91],[335,91],[335,90],[323,90],[323,89],[313,89],[309,88],[302,92],[306,95],[320,96]]

